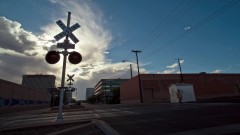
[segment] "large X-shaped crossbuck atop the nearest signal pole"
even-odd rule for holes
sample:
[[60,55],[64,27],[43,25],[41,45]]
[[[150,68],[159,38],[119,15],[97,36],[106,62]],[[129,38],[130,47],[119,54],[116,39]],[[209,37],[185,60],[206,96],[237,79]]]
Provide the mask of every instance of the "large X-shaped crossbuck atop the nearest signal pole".
[[54,38],[58,41],[61,38],[68,36],[69,38],[72,39],[72,41],[76,44],[77,42],[79,42],[79,40],[75,37],[75,35],[72,33],[74,30],[80,28],[80,25],[78,23],[72,25],[71,27],[67,27],[61,20],[58,20],[57,25],[63,30],[62,32],[60,32],[59,34],[57,34],[56,36],[54,36]]

